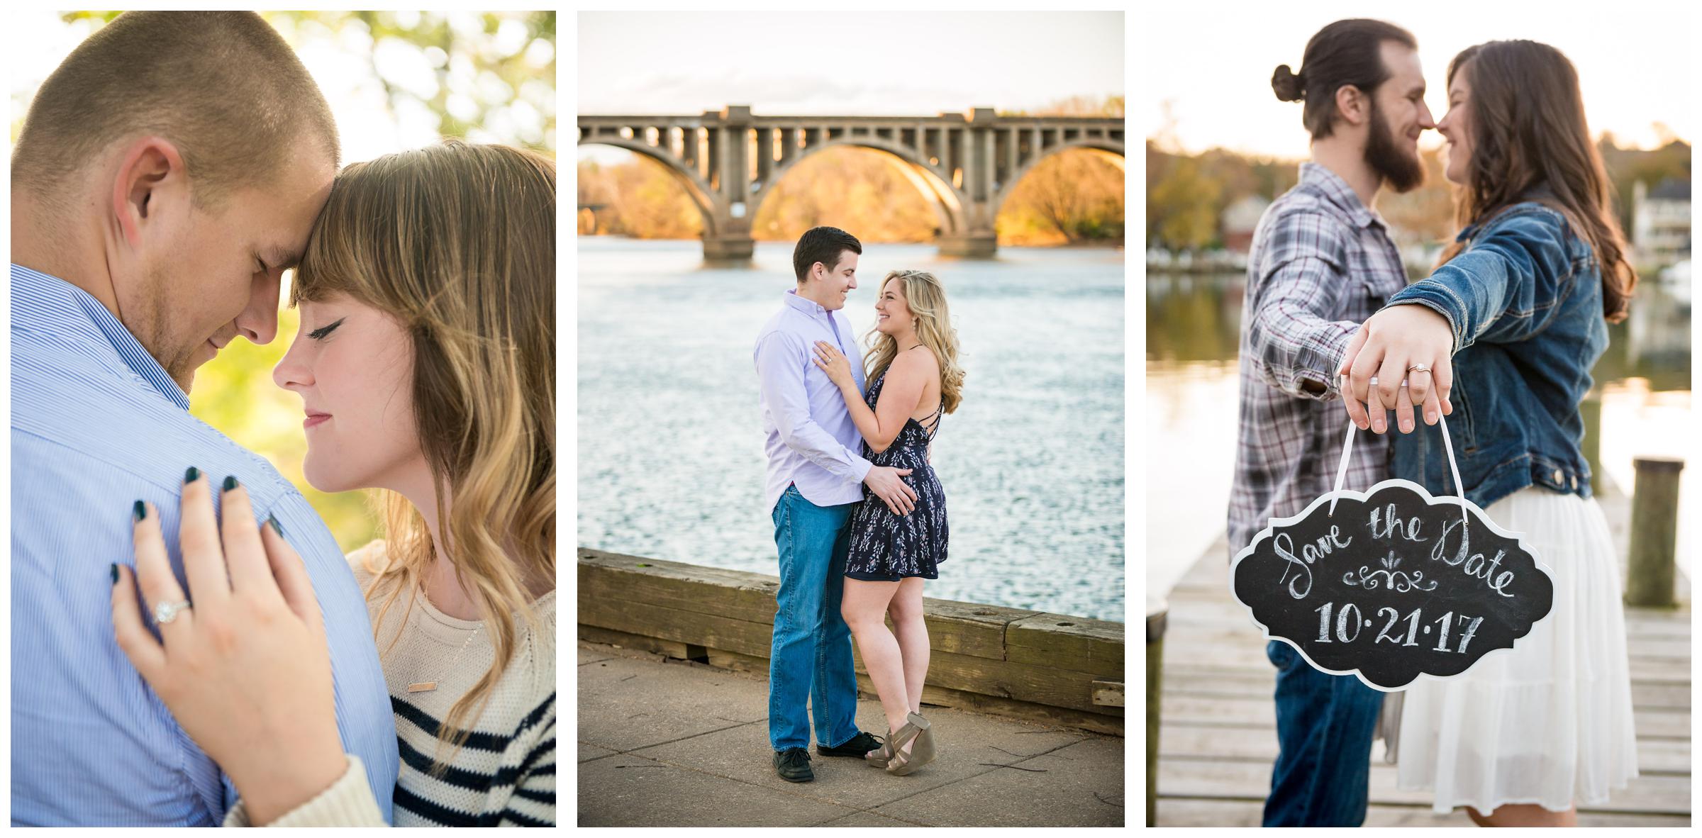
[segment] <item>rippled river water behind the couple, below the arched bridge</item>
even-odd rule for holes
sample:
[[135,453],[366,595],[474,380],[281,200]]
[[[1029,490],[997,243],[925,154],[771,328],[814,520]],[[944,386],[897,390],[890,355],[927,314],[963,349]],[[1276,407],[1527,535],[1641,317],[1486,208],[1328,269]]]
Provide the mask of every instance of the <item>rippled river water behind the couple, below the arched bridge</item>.
[[[579,238],[579,543],[778,574],[751,349],[791,245],[710,269],[698,242]],[[887,271],[946,284],[967,370],[933,463],[950,559],[926,594],[1123,622],[1123,252],[865,245],[861,337]]]

